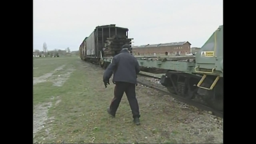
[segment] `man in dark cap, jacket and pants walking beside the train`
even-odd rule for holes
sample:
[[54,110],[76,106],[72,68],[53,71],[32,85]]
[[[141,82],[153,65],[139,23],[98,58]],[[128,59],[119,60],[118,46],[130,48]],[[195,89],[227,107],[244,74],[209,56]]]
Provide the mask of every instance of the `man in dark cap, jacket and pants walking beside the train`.
[[125,92],[129,101],[133,122],[140,125],[139,105],[136,99],[135,85],[137,85],[137,74],[140,72],[140,66],[137,59],[130,54],[131,47],[129,44],[122,46],[122,51],[113,57],[108,68],[103,74],[103,82],[105,87],[109,84],[109,78],[113,76],[113,83],[116,84],[114,90],[114,98],[107,109],[108,114],[112,117],[116,116],[116,110],[121,102]]

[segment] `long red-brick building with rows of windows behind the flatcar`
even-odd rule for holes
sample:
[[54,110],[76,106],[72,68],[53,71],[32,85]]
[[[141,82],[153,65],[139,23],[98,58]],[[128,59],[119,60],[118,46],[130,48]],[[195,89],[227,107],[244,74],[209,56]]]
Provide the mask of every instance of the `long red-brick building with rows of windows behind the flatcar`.
[[190,43],[176,42],[166,44],[147,44],[132,46],[134,55],[186,55],[190,53]]

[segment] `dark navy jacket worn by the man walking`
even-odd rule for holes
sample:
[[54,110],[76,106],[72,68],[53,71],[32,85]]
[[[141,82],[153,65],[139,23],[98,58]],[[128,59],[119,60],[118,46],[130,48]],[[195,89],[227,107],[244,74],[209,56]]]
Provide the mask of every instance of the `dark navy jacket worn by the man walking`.
[[108,81],[113,76],[113,82],[128,82],[137,84],[137,74],[140,72],[140,66],[137,59],[127,50],[122,50],[113,57],[112,62],[103,74],[103,81]]

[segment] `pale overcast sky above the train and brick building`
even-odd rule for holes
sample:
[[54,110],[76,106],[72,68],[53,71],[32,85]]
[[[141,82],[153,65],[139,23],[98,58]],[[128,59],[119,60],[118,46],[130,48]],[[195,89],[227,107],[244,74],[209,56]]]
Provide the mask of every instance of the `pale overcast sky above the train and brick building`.
[[34,49],[76,51],[99,25],[129,29],[134,45],[201,47],[223,24],[223,0],[34,0]]

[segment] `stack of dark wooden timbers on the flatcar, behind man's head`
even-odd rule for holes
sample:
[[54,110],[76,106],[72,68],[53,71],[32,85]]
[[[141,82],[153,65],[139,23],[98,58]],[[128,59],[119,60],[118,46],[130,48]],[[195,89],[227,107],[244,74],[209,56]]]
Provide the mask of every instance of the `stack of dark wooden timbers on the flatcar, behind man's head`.
[[124,44],[132,44],[133,38],[127,38],[126,36],[112,36],[107,38],[105,43],[104,57],[113,57],[120,53]]

